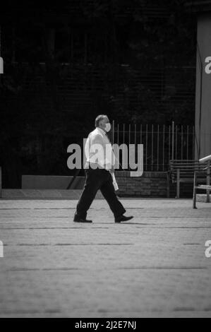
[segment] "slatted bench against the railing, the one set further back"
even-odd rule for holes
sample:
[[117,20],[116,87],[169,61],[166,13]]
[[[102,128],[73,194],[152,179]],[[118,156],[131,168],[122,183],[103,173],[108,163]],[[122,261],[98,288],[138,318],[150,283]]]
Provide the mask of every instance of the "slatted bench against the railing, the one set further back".
[[167,196],[170,196],[170,180],[176,183],[176,198],[180,198],[180,184],[193,183],[195,172],[203,170],[203,165],[198,160],[170,160],[167,172]]

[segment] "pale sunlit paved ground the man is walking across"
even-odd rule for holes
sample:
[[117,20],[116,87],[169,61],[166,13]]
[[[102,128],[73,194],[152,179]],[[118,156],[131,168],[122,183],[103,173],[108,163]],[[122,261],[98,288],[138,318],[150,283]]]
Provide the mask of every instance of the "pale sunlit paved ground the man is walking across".
[[92,225],[76,201],[0,201],[0,316],[211,317],[210,204],[122,201],[131,222],[100,200]]

